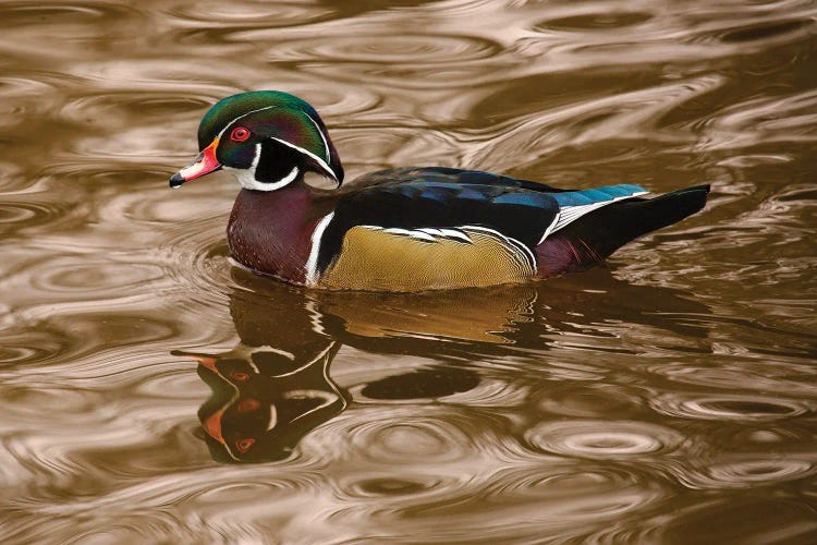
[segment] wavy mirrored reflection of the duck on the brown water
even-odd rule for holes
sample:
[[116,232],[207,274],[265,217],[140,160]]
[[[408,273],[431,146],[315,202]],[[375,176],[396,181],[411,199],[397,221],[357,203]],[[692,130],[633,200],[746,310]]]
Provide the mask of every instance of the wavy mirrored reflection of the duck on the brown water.
[[[552,282],[368,294],[307,292],[239,269],[234,279],[239,287],[231,293],[230,313],[240,342],[218,354],[173,352],[196,360],[198,375],[212,390],[198,417],[211,456],[227,463],[290,456],[304,435],[349,405],[350,390],[368,400],[436,400],[472,390],[480,376],[467,362],[501,358],[509,346],[545,349],[544,335],[575,327],[575,313],[562,316],[559,307],[588,296],[570,287],[548,290]],[[609,274],[602,281],[612,281]],[[613,283],[633,290],[624,282]],[[556,307],[540,301],[548,291]],[[678,312],[700,310],[668,290],[635,291],[641,303],[630,319],[643,317],[644,301],[656,294],[664,314],[667,301],[674,301]],[[599,294],[592,299],[603,300]],[[624,307],[615,314],[621,319],[629,312]],[[389,354],[407,354],[440,363],[342,388],[332,380],[330,365],[343,346],[386,360]]]

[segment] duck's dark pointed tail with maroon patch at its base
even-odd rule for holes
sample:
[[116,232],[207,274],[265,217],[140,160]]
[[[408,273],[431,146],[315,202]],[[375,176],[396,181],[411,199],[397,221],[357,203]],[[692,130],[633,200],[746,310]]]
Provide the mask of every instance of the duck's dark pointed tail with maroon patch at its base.
[[709,185],[655,198],[629,198],[594,210],[536,247],[539,276],[598,265],[627,242],[671,226],[704,208]]

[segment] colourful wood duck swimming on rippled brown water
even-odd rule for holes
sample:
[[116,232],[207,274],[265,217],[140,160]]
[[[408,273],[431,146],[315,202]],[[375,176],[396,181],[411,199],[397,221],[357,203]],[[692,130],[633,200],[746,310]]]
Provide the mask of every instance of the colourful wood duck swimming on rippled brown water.
[[[700,210],[709,192],[647,199],[631,184],[570,191],[444,167],[382,170],[341,189],[343,167],[318,113],[273,90],[217,102],[198,146],[170,186],[231,170],[242,186],[227,229],[235,261],[312,288],[455,289],[580,270]],[[307,172],[338,189],[308,185]]]

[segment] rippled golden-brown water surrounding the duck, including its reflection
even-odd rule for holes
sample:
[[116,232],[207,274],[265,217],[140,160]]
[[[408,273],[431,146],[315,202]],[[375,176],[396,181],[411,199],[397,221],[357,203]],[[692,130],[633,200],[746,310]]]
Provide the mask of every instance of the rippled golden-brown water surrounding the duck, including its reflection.
[[[814,2],[7,0],[0,28],[0,541],[817,542]],[[352,177],[714,192],[607,269],[309,293],[231,265],[227,174],[167,187],[263,88]]]

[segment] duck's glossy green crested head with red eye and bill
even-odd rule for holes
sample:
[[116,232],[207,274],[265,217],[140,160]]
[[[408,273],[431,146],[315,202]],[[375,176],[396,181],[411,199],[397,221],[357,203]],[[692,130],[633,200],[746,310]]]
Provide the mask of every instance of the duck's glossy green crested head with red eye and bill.
[[277,90],[216,102],[198,125],[200,153],[170,178],[179,187],[216,170],[231,170],[242,187],[273,191],[317,172],[343,181],[343,167],[324,122],[304,100]]

